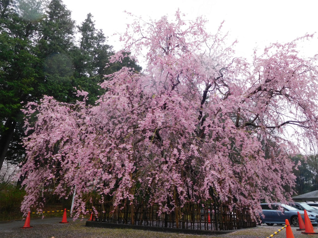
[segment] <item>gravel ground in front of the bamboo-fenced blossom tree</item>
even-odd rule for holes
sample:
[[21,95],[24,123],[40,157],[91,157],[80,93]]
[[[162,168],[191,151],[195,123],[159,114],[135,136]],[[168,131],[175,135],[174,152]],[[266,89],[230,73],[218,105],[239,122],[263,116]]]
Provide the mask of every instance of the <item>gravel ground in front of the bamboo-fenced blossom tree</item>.
[[[238,230],[230,234],[199,236],[177,233],[161,233],[132,229],[106,229],[85,227],[85,222],[77,220],[60,224],[61,218],[31,219],[33,228],[21,229],[24,221],[0,223],[1,238],[266,238],[281,226],[257,226],[256,228]],[[292,227],[295,238],[308,238]],[[279,232],[274,238],[286,238],[286,231]]]

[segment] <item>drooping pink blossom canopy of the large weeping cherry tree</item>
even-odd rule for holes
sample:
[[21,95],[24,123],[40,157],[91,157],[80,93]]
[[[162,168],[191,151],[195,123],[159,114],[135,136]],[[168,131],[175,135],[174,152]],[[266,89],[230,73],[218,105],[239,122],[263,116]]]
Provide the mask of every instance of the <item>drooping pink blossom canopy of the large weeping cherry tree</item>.
[[311,36],[272,44],[247,62],[234,57],[222,25],[210,34],[204,18],[175,17],[129,25],[110,63],[132,52],[146,54],[147,68],[108,75],[94,106],[81,90],[76,104],[47,96],[27,105],[37,121],[24,140],[24,212],[43,191],[69,197],[75,186],[79,209],[91,191],[115,206],[143,197],[162,212],[167,201],[211,200],[257,214],[261,200],[290,199],[290,155],[317,146],[317,56],[296,51]]

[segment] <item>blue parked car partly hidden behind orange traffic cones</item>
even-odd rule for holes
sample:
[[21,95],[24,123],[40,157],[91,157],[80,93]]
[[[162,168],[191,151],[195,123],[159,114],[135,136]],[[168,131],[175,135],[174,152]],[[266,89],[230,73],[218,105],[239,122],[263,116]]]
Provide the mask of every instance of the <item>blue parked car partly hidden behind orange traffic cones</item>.
[[[262,207],[262,213],[260,213],[260,218],[262,223],[265,223],[268,226],[273,226],[274,224],[283,225],[285,224],[285,220],[288,219],[289,223],[293,226],[298,227],[298,213],[301,214],[303,221],[305,221],[304,211],[298,210],[295,207],[289,206],[287,204],[271,204],[262,203],[260,204]],[[314,212],[308,212],[308,217],[312,222],[313,226],[317,226],[318,215]],[[263,217],[263,216],[264,217]]]

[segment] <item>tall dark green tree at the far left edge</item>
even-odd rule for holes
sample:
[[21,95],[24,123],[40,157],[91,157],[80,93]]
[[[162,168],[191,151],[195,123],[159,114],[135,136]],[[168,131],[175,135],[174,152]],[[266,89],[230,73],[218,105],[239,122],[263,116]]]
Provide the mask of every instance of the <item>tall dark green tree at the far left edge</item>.
[[[43,18],[41,2],[1,1],[0,54],[0,168],[13,137],[23,102],[34,101],[38,59],[32,41]],[[21,103],[22,102],[22,103]]]

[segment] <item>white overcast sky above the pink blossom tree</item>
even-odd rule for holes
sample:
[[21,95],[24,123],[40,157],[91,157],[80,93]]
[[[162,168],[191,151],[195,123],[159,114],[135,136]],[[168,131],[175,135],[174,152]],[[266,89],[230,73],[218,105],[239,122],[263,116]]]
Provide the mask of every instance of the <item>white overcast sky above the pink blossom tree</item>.
[[[95,27],[109,37],[108,44],[120,49],[118,36],[131,18],[129,11],[147,20],[163,15],[173,16],[179,8],[186,19],[203,15],[209,20],[208,31],[216,32],[225,20],[224,31],[230,32],[229,42],[238,39],[239,56],[248,58],[254,47],[263,49],[269,43],[290,42],[306,33],[318,31],[318,0],[64,0],[72,18],[80,24],[87,13],[94,16]],[[302,54],[318,54],[318,34],[306,43]]]

